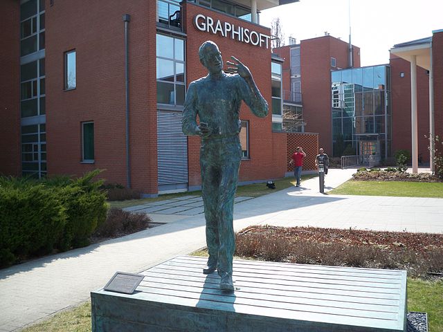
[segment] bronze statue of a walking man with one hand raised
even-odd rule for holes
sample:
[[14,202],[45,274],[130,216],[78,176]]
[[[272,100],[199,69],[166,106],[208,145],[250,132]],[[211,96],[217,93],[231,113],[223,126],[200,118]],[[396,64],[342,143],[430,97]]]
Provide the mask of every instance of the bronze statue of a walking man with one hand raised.
[[204,42],[199,48],[199,57],[209,73],[189,85],[182,127],[188,136],[201,136],[201,182],[209,253],[203,273],[217,269],[220,289],[232,292],[234,196],[242,159],[240,105],[243,100],[255,116],[264,118],[268,114],[268,103],[249,69],[238,59],[231,57],[233,62],[226,62],[228,73],[224,73],[221,53],[214,42]]

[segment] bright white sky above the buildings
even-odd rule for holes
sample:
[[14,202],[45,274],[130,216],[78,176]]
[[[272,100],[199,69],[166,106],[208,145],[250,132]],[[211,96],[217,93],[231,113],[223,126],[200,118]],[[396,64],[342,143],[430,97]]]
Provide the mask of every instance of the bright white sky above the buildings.
[[[349,10],[350,9],[350,10]],[[431,37],[443,29],[443,0],[300,0],[260,13],[260,25],[280,17],[285,44],[288,37],[332,37],[359,46],[361,66],[389,63],[395,44]]]

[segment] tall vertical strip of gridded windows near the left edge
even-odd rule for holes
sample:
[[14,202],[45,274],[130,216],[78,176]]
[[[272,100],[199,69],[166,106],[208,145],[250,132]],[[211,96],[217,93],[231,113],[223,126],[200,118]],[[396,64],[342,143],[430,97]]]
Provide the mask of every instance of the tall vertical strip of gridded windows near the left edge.
[[20,5],[21,170],[46,176],[45,2]]

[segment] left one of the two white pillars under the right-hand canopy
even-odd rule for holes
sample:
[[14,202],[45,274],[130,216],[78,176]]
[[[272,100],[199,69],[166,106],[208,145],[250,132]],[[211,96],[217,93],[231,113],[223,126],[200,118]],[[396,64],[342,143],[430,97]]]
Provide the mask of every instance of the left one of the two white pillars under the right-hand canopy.
[[418,172],[418,126],[417,126],[417,57],[410,57],[410,124],[412,141],[413,173]]

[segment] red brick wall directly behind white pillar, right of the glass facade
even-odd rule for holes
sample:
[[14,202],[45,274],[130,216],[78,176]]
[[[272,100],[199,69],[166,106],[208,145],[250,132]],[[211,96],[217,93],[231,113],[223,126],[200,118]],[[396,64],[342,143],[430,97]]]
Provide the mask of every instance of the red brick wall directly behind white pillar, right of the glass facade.
[[[412,151],[410,124],[410,62],[390,55],[392,94],[392,155],[399,149]],[[404,73],[404,77],[400,77]],[[417,66],[418,153],[429,162],[429,76]]]

